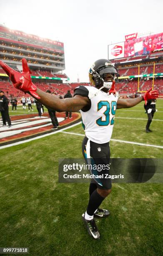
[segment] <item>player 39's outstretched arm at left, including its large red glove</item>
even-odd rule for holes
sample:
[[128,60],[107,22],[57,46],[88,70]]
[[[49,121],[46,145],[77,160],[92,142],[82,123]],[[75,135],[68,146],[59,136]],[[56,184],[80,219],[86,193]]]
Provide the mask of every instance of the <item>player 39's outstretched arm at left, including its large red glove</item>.
[[38,89],[31,80],[31,72],[27,60],[24,58],[22,59],[23,71],[21,73],[15,71],[3,61],[0,61],[0,66],[5,70],[6,74],[8,74],[15,88],[25,93],[29,93],[48,108],[57,110],[58,112],[74,112],[84,108],[89,103],[87,97],[80,95],[76,95],[74,98],[58,99],[57,97]]

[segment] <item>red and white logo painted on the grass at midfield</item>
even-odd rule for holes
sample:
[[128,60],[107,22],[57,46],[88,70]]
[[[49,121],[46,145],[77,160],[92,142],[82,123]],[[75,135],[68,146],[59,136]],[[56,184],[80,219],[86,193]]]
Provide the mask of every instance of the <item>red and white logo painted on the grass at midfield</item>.
[[44,113],[41,118],[36,113],[10,116],[12,124],[10,128],[8,126],[2,127],[3,121],[0,118],[0,146],[54,133],[68,125],[72,125],[72,123],[80,119],[80,114],[73,113],[72,117],[72,119],[65,119],[65,113],[57,113],[60,127],[55,131],[51,129],[53,125],[48,113]]

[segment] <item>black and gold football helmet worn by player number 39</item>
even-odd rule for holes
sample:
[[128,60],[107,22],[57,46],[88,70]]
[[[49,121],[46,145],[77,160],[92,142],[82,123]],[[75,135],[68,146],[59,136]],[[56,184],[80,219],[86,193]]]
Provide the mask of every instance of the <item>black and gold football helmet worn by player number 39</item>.
[[95,86],[102,85],[111,89],[113,83],[118,81],[118,69],[108,59],[98,59],[89,70],[90,82]]

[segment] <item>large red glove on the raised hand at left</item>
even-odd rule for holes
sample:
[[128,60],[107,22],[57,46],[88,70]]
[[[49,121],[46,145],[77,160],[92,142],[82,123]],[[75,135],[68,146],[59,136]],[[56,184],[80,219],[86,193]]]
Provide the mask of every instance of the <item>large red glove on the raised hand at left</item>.
[[11,67],[9,67],[7,64],[5,64],[3,61],[0,61],[0,66],[4,69],[6,74],[8,74],[11,82],[13,83],[13,86],[16,89],[19,89],[25,93],[30,92],[30,94],[33,97],[40,99],[40,97],[36,93],[37,87],[35,86],[35,84],[33,84],[31,80],[31,77],[30,77],[31,71],[28,67],[26,59],[24,58],[22,59],[23,71],[21,73],[15,71]]

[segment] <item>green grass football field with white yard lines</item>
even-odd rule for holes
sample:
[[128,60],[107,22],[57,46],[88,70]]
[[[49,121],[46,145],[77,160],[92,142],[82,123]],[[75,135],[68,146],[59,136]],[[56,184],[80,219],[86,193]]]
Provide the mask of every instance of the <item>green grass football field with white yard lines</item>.
[[[163,158],[163,100],[156,108],[152,133],[143,102],[116,111],[112,158]],[[162,255],[163,184],[113,183],[102,204],[110,216],[96,220],[101,239],[88,235],[81,215],[89,184],[58,183],[58,159],[82,158],[84,131],[79,124],[64,132],[0,150],[0,247],[29,247],[33,256]]]

